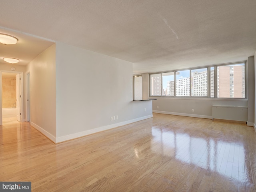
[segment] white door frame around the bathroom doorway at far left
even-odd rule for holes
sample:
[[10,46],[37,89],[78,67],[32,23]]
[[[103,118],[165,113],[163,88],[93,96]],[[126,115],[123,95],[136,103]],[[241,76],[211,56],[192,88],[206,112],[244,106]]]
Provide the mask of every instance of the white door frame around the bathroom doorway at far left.
[[20,101],[20,110],[21,110],[21,122],[24,122],[24,97],[23,97],[23,72],[20,71],[8,71],[8,70],[0,70],[0,125],[3,124],[3,116],[2,116],[2,72],[6,72],[6,73],[16,73],[16,74],[20,74],[20,78],[21,78],[21,101]]

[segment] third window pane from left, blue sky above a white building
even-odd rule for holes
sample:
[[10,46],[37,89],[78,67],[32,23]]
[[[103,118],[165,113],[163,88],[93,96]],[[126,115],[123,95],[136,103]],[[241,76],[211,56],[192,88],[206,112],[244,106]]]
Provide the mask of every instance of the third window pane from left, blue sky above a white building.
[[176,96],[190,96],[190,70],[176,72]]

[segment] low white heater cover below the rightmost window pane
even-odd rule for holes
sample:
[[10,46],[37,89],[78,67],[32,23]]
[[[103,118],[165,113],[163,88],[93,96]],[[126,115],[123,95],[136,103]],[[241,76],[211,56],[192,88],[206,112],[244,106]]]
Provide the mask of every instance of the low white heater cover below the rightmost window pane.
[[212,106],[212,119],[234,120],[247,122],[248,107],[241,106]]

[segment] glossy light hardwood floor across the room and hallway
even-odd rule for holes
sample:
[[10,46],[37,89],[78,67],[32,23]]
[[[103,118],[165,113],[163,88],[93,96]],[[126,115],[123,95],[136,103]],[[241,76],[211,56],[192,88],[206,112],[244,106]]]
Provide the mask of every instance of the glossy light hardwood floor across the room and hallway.
[[32,192],[254,191],[256,134],[245,124],[154,114],[53,144],[29,123],[6,123],[0,181],[31,181]]

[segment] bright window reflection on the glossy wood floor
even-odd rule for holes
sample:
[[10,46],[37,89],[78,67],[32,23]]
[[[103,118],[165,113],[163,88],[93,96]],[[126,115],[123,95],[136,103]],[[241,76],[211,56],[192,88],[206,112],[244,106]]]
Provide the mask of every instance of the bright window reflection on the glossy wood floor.
[[[152,150],[194,164],[226,178],[238,179],[244,169],[244,146],[232,141],[197,138],[186,133],[152,128]],[[156,144],[157,143],[157,144]]]

